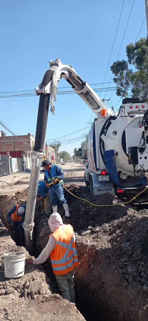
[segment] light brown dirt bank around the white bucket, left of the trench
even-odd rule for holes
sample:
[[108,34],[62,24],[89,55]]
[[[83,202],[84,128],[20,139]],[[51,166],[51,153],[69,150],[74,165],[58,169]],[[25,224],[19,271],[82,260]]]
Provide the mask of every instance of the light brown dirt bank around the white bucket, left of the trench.
[[21,278],[4,277],[4,253],[24,251],[25,257],[30,257],[24,247],[16,246],[5,223],[11,206],[19,200],[25,202],[26,192],[16,194],[0,197],[0,321],[85,321],[74,303],[54,292],[41,265],[26,264]]

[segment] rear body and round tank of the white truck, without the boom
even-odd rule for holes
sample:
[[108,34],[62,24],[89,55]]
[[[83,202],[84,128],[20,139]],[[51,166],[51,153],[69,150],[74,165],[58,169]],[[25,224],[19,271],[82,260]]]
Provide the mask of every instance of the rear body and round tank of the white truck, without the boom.
[[87,147],[85,180],[91,195],[108,191],[122,199],[138,194],[147,185],[148,104],[124,99],[118,117],[96,118]]

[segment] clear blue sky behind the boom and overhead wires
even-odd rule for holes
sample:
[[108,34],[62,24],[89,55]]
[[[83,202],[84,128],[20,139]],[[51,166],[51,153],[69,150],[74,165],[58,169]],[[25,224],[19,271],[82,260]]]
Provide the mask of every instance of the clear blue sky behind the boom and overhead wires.
[[[132,3],[133,0],[125,0],[109,66],[116,61]],[[0,91],[34,90],[48,69],[49,59],[57,57],[64,64],[71,64],[89,84],[102,83],[122,4],[123,0],[2,1]],[[144,16],[144,0],[135,0],[118,59],[126,59],[126,45],[135,42]],[[145,36],[146,22],[138,39]],[[108,68],[105,82],[110,78]],[[110,83],[110,87],[113,85]],[[66,86],[68,83],[61,80],[58,88]],[[114,106],[120,99],[115,92],[111,97]],[[102,91],[100,98],[105,94]],[[111,94],[108,91],[106,98]],[[18,134],[35,135],[39,97],[1,98],[0,103],[1,121]],[[95,114],[76,94],[57,95],[55,109],[55,116],[48,115],[47,142],[88,127],[68,136],[68,139],[77,138],[78,142],[69,144],[64,141],[66,137],[61,139],[60,150],[72,155],[74,147],[84,140],[80,136],[89,131],[87,123]]]

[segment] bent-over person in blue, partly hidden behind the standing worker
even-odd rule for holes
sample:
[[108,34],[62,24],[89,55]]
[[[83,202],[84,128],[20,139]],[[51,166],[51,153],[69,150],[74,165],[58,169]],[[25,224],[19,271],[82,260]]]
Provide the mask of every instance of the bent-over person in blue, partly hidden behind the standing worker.
[[46,187],[44,181],[39,181],[38,192],[37,192],[37,202],[41,201],[42,213],[45,209],[45,214],[48,216],[51,214],[51,202],[49,196],[49,187]]

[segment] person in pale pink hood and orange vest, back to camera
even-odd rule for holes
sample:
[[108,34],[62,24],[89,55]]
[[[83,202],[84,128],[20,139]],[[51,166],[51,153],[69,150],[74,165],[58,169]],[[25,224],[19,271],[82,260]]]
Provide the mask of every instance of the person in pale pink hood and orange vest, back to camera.
[[46,247],[39,257],[26,261],[28,264],[42,264],[50,256],[61,296],[75,303],[74,267],[79,264],[73,227],[63,224],[60,214],[56,212],[50,215],[48,224],[53,233],[50,234]]

